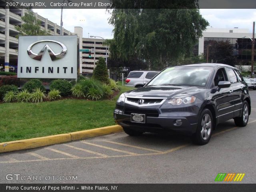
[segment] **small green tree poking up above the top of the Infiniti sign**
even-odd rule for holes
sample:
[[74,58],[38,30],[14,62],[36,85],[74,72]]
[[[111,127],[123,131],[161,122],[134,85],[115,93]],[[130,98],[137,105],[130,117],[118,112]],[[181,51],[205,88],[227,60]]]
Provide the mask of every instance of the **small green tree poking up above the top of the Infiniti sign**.
[[36,19],[34,12],[28,9],[25,15],[21,17],[24,24],[21,26],[15,26],[15,29],[19,32],[18,36],[40,36],[48,35],[46,30],[41,29],[41,21]]

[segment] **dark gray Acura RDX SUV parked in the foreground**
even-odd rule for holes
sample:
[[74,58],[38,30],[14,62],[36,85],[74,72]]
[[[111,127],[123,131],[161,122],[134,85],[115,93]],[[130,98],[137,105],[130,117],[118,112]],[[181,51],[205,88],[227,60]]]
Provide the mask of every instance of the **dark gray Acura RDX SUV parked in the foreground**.
[[114,120],[124,132],[182,132],[207,144],[220,122],[246,126],[251,112],[248,86],[225,64],[192,64],[162,70],[143,88],[120,95]]

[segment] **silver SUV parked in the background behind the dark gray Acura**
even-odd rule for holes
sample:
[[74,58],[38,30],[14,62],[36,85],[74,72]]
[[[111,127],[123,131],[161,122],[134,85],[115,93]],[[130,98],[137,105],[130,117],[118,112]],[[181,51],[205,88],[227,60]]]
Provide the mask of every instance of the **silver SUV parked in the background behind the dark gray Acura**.
[[150,79],[152,79],[159,71],[147,71],[147,70],[134,70],[131,71],[125,82],[125,86],[141,88],[147,83]]

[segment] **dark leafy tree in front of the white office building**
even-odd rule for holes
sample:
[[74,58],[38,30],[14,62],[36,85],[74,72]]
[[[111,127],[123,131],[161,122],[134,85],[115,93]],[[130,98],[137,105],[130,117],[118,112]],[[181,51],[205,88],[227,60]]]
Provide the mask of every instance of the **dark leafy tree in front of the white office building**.
[[233,46],[229,42],[211,41],[209,46],[209,62],[223,63],[231,66],[236,65],[237,58],[233,54]]

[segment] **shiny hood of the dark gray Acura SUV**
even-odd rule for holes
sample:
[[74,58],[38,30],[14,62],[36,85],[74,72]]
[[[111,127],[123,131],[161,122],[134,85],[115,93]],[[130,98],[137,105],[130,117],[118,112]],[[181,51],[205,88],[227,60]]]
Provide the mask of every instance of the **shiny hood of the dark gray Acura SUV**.
[[126,97],[164,97],[190,95],[199,92],[203,88],[188,86],[145,86],[136,90],[124,93]]

